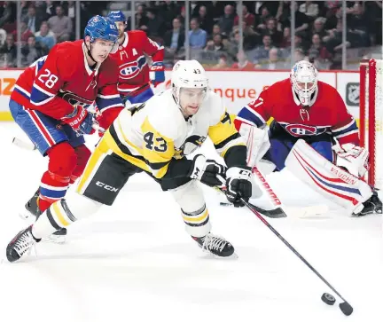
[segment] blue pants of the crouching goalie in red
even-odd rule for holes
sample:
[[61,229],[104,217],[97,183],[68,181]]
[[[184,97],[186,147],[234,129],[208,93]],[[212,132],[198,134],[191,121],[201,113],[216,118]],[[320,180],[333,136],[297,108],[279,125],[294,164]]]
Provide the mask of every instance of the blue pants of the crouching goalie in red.
[[335,160],[335,154],[332,150],[333,140],[330,135],[322,134],[310,137],[292,137],[276,122],[271,123],[269,133],[270,149],[263,156],[263,159],[273,162],[277,166],[278,171],[284,169],[287,155],[299,138],[304,139],[307,144],[328,161],[332,162]]

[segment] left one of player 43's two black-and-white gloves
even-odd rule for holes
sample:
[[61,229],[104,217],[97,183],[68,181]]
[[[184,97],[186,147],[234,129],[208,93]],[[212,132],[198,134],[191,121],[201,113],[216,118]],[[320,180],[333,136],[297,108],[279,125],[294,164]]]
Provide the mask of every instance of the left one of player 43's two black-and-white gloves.
[[209,186],[222,186],[223,183],[217,176],[224,176],[225,167],[214,160],[207,160],[202,154],[197,154],[193,159],[189,177],[197,179]]

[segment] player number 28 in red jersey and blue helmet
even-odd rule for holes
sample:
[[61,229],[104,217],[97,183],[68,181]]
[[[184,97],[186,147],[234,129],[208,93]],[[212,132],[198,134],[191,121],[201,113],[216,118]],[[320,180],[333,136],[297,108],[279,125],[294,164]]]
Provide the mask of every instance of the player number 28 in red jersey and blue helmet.
[[123,106],[117,90],[118,66],[108,58],[116,50],[117,38],[113,20],[93,17],[83,40],[57,44],[48,56],[27,67],[15,84],[12,116],[50,159],[38,191],[26,205],[35,216],[63,198],[82,175],[90,157],[82,135],[95,131],[87,107],[94,101],[101,111]]

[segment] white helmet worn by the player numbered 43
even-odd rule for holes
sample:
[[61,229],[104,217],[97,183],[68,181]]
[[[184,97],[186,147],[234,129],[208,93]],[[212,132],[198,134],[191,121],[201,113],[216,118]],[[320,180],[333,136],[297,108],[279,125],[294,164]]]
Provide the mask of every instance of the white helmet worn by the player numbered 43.
[[206,89],[207,75],[204,67],[197,60],[178,60],[171,75],[173,96],[179,105],[181,88]]

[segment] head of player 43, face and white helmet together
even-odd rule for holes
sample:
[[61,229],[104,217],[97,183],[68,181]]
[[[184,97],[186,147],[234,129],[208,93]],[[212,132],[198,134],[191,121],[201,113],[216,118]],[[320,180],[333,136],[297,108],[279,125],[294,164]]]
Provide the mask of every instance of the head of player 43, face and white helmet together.
[[207,94],[207,75],[197,60],[179,60],[171,76],[173,97],[185,116],[196,114]]

